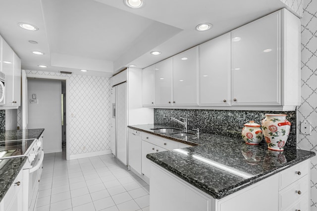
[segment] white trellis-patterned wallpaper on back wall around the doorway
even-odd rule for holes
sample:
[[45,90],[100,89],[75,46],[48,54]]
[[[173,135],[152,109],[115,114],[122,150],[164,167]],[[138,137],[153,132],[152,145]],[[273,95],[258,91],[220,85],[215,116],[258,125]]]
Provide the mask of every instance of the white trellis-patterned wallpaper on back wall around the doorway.
[[26,73],[69,78],[69,155],[110,149],[109,78],[31,70]]

